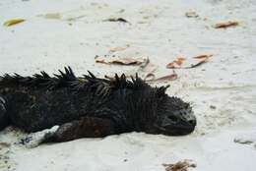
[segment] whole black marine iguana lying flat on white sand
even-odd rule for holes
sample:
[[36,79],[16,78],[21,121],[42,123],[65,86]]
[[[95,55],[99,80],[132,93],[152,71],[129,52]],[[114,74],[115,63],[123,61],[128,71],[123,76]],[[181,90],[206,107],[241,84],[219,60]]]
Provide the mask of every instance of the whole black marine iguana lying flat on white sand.
[[101,138],[129,132],[167,136],[194,131],[196,118],[189,103],[153,87],[136,75],[76,77],[70,67],[50,77],[0,77],[0,130],[9,125],[34,133],[54,127],[45,142]]

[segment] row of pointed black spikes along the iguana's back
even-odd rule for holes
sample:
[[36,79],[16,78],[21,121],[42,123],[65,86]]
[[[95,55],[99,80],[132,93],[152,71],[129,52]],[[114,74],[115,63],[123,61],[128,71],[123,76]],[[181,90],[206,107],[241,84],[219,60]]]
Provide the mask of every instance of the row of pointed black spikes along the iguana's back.
[[[0,78],[1,86],[28,86],[36,88],[57,89],[61,87],[68,87],[73,91],[79,92],[81,90],[95,91],[97,96],[105,97],[109,95],[115,89],[140,89],[149,86],[136,74],[135,78],[131,77],[128,80],[124,74],[120,77],[115,74],[113,79],[99,79],[88,71],[89,75],[84,75],[82,78],[75,76],[73,70],[70,67],[65,67],[64,72],[59,70],[59,74],[54,74],[54,77],[50,77],[46,72],[42,71],[39,74],[34,74],[32,77],[23,77],[18,74],[4,75]],[[162,95],[167,87],[161,86],[157,88],[157,93]]]

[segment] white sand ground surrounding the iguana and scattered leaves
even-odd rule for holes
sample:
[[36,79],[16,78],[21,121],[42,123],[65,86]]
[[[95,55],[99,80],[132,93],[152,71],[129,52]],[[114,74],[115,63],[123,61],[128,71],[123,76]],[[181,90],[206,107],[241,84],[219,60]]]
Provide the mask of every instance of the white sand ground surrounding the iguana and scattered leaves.
[[[185,17],[190,10],[199,17]],[[1,0],[0,24],[15,17],[27,21],[0,26],[0,74],[52,73],[67,65],[77,75],[133,74],[138,67],[95,63],[96,55],[126,44],[117,54],[149,57],[157,76],[172,72],[165,65],[177,55],[214,56],[198,68],[176,70],[177,81],[159,84],[170,84],[169,94],[192,103],[198,118],[192,135],[132,133],[28,149],[17,144],[23,134],[7,129],[0,133],[1,171],[163,171],[161,163],[183,159],[197,164],[191,170],[255,171],[256,1]],[[131,25],[102,22],[113,17]],[[212,28],[223,20],[240,25]]]

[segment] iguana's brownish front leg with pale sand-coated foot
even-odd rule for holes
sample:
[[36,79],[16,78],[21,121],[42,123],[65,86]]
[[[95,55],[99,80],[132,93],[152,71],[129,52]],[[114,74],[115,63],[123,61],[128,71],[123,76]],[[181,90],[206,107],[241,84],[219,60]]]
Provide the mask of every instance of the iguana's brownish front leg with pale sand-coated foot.
[[81,138],[103,138],[115,133],[109,119],[82,117],[80,120],[54,126],[51,129],[32,133],[22,142],[27,147],[35,147],[42,142],[68,142]]

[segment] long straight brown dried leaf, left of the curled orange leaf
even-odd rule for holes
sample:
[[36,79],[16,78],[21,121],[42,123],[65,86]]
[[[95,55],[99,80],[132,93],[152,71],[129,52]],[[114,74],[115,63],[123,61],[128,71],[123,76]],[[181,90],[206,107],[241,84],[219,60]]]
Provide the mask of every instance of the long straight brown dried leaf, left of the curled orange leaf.
[[110,58],[102,58],[96,56],[96,63],[104,63],[104,64],[120,64],[120,65],[140,65],[144,60],[133,59],[133,58],[120,58],[120,57],[110,57]]

